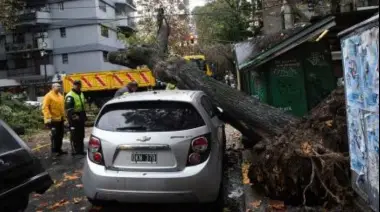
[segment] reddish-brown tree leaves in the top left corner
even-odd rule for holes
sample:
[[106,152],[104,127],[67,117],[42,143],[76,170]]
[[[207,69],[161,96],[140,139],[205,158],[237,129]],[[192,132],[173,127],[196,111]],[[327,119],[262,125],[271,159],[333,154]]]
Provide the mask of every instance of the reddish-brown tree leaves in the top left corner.
[[21,0],[0,0],[0,25],[5,29],[13,29],[17,22],[17,14],[25,7]]

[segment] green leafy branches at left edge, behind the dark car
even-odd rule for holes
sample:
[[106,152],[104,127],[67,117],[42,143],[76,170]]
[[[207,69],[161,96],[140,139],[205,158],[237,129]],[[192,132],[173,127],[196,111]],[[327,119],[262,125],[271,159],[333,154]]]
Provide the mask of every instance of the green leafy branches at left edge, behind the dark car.
[[20,134],[43,127],[41,110],[12,98],[10,93],[0,94],[0,119]]

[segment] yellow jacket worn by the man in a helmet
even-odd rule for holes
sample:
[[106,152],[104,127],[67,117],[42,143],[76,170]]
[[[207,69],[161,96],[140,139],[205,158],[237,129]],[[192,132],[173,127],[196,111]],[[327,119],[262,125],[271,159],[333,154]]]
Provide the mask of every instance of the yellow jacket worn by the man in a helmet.
[[47,93],[42,103],[42,113],[45,124],[48,120],[63,121],[65,119],[65,106],[62,94],[54,91]]

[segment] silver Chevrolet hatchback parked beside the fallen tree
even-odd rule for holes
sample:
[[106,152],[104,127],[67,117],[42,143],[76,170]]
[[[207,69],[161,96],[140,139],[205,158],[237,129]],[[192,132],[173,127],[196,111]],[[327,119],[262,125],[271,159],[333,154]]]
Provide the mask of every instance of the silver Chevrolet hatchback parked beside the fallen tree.
[[86,196],[94,205],[218,203],[225,147],[221,113],[201,91],[138,92],[110,100],[89,140]]

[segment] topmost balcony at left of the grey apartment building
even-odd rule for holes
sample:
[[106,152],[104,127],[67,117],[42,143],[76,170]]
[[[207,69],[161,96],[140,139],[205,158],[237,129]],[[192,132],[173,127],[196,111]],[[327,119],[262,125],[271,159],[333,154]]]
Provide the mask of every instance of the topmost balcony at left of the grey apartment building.
[[19,13],[18,26],[30,26],[50,24],[52,22],[50,11],[47,7],[25,9]]

